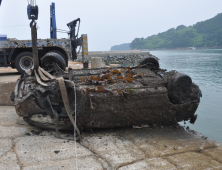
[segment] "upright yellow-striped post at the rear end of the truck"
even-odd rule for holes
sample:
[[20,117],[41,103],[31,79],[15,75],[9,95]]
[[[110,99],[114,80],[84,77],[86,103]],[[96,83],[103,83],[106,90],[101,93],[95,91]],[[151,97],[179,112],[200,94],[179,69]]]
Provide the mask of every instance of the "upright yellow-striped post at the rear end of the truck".
[[88,38],[87,34],[82,34],[82,62],[83,68],[89,67]]

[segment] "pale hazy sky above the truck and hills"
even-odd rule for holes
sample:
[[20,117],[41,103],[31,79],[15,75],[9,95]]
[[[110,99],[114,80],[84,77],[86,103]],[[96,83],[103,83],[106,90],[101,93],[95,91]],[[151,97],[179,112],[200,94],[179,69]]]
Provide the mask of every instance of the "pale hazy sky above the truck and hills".
[[[81,18],[80,35],[88,34],[90,51],[108,51],[113,45],[181,24],[193,25],[222,12],[222,0],[37,0],[38,38],[50,37],[51,2],[56,3],[57,28],[68,30],[68,22]],[[27,0],[2,1],[0,34],[30,39],[27,5]],[[57,35],[67,38],[67,34]]]

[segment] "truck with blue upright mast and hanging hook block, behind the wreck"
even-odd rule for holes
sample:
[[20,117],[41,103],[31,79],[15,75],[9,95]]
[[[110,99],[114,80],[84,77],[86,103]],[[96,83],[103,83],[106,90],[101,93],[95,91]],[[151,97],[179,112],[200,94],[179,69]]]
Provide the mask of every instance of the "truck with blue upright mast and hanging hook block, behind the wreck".
[[[2,0],[0,5],[1,2]],[[32,0],[28,4],[27,14],[30,20],[38,19],[38,6]],[[82,37],[78,37],[79,29],[76,31],[77,24],[80,25],[80,19],[67,24],[70,29],[67,32],[68,39],[57,39],[55,3],[50,6],[50,14],[50,39],[37,39],[39,63],[47,71],[53,70],[53,62],[64,70],[68,66],[68,60],[77,58],[76,49],[82,45]],[[20,73],[25,73],[32,68],[32,41],[0,35],[0,67],[16,68]]]

